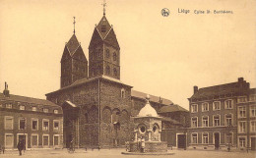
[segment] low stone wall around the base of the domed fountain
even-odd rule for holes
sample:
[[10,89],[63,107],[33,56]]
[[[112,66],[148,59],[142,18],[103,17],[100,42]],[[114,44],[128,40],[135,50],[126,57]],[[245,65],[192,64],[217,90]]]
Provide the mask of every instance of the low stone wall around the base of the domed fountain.
[[[141,152],[137,142],[130,141],[130,152]],[[166,141],[146,141],[144,152],[167,152]]]

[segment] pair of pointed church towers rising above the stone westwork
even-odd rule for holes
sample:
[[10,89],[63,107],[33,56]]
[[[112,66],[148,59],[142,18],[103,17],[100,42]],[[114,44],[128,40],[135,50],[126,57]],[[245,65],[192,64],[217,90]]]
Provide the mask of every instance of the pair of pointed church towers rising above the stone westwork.
[[[89,68],[88,68],[89,66]],[[89,64],[75,31],[61,58],[61,88],[78,79],[106,76],[120,79],[120,47],[105,15],[95,27],[89,45]]]

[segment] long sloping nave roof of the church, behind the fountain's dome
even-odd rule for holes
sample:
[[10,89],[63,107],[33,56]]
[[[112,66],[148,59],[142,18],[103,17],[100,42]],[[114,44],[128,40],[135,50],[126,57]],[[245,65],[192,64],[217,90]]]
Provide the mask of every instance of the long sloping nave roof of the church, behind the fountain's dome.
[[[145,99],[147,95],[148,95],[147,93],[144,93],[144,92],[141,92],[141,91],[137,91],[137,90],[133,90],[133,89],[131,91],[131,96],[132,97]],[[165,105],[173,104],[172,101],[170,101],[168,99],[165,99],[165,98],[160,98],[159,96],[150,95],[150,97],[151,97],[150,101],[153,101],[153,102],[160,103],[160,100],[161,100],[161,104],[165,104]]]

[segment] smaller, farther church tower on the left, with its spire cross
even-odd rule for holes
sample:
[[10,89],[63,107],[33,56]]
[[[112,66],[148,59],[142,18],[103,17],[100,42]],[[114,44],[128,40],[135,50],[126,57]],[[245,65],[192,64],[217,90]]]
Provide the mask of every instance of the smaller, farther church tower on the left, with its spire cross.
[[88,61],[75,34],[75,24],[74,18],[74,34],[66,43],[60,62],[61,88],[78,79],[88,78]]

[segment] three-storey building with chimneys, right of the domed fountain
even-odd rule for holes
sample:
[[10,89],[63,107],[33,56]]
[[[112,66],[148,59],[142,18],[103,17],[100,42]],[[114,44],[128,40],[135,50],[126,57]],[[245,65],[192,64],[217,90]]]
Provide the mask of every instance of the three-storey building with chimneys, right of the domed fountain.
[[[236,82],[199,88],[188,99],[193,148],[255,148],[255,88]],[[249,126],[250,125],[250,126]]]

